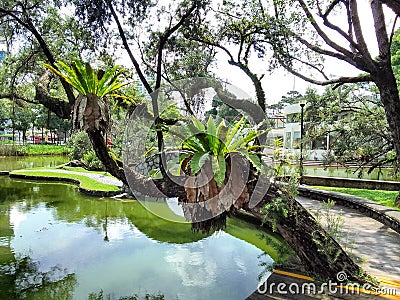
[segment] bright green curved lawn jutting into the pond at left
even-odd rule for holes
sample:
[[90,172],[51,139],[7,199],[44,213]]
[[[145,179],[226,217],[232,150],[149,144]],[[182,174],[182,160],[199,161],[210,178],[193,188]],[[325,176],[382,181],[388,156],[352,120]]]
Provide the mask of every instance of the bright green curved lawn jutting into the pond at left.
[[[86,171],[86,173],[91,173],[91,172]],[[99,172],[96,172],[96,173],[99,173]],[[104,172],[100,172],[100,173],[104,174]],[[17,171],[11,172],[11,174],[21,174],[21,175],[47,177],[47,178],[50,177],[50,178],[75,179],[75,180],[79,181],[80,187],[87,189],[87,190],[92,190],[92,191],[113,192],[113,191],[119,190],[119,188],[114,185],[104,184],[104,183],[98,182],[94,179],[88,178],[84,175],[46,172],[45,170],[41,171],[40,168],[29,169],[29,170],[17,170]]]

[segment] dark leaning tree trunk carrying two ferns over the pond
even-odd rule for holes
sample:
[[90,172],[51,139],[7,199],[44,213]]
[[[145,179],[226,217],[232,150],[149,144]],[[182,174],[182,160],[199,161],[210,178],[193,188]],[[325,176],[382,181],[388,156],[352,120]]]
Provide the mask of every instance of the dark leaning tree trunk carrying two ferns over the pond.
[[[183,186],[171,185],[172,181],[154,180],[148,181],[144,176],[141,176],[129,168],[122,167],[122,162],[111,157],[104,138],[99,130],[87,131],[92,142],[93,148],[97,157],[103,162],[107,171],[116,176],[124,183],[129,179],[130,186],[133,185],[139,192],[148,193],[161,191],[164,195],[172,197],[178,196],[181,199],[186,196],[186,191]],[[126,175],[126,176],[125,176]],[[157,189],[154,189],[157,187]],[[249,192],[252,187],[248,187]],[[252,213],[254,216],[262,219],[264,216],[260,213],[261,209],[277,197],[278,187],[271,185],[269,193],[264,197],[256,207],[249,209],[244,206],[244,209]],[[153,196],[160,196],[157,193]],[[330,237],[327,232],[318,225],[314,217],[303,208],[298,202],[293,201],[289,209],[289,214],[286,218],[281,218],[277,223],[277,230],[282,237],[287,241],[290,247],[300,258],[304,267],[315,276],[321,279],[336,280],[336,274],[340,271],[345,271],[349,280],[365,281],[366,274],[354,261],[346,254],[340,245]],[[215,219],[216,223],[220,223],[225,218]],[[215,223],[213,220],[207,222],[208,226]],[[219,224],[220,225],[220,224]],[[195,229],[199,224],[195,224]]]

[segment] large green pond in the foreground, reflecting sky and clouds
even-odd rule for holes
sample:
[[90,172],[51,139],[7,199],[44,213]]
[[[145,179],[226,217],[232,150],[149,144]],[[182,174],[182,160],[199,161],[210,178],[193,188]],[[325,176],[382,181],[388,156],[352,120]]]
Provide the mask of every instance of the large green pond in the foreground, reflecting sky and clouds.
[[0,187],[0,299],[244,299],[272,263],[229,224],[206,236],[69,184],[3,176]]

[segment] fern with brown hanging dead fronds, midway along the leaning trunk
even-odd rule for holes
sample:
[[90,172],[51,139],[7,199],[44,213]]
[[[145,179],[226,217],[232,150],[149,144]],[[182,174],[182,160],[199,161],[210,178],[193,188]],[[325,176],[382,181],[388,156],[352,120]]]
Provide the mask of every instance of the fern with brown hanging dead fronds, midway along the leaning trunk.
[[244,168],[249,164],[243,162],[247,160],[261,171],[260,153],[256,152],[260,147],[253,144],[265,131],[246,127],[244,117],[234,126],[227,126],[224,121],[216,124],[211,117],[204,125],[193,118],[181,126],[180,132],[172,132],[181,142],[181,169],[191,175],[185,183],[186,200],[183,202],[217,199],[218,203],[213,200],[214,204],[205,207],[216,215],[230,211],[232,206],[241,208],[249,201],[248,178],[244,178]]

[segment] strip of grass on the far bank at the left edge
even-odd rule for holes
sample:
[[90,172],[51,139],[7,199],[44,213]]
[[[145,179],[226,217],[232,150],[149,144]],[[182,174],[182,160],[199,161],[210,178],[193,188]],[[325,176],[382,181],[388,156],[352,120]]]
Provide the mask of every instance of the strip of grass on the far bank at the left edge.
[[0,156],[68,155],[71,149],[60,145],[17,145],[0,143]]

